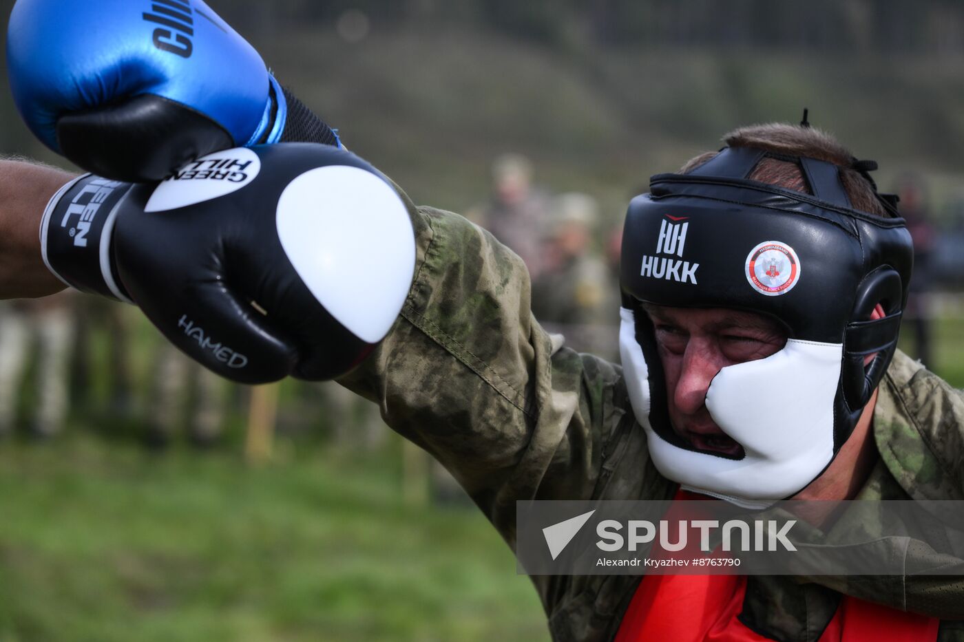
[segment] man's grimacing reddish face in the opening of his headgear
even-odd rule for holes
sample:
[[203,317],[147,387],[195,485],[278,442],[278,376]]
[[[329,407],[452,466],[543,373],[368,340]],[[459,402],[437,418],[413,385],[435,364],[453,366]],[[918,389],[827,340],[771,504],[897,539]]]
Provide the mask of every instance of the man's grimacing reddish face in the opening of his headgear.
[[666,377],[673,430],[699,450],[741,457],[743,447],[713,422],[707,390],[728,365],[769,357],[787,334],[763,314],[725,308],[666,308],[647,304]]

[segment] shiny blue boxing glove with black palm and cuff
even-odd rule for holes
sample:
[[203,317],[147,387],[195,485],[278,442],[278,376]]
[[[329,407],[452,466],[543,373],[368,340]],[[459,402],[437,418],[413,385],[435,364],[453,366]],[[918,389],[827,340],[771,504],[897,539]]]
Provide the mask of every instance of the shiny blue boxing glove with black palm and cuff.
[[110,178],[158,180],[229,147],[340,147],[201,0],[18,0],[7,64],[40,141]]

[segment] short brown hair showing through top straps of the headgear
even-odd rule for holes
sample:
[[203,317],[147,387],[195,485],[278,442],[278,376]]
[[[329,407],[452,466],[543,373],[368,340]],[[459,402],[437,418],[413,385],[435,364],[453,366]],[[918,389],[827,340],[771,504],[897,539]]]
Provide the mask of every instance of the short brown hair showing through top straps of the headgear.
[[[878,216],[891,216],[877,200],[876,191],[851,165],[853,154],[825,131],[814,127],[801,127],[784,122],[739,127],[723,137],[729,147],[754,147],[778,154],[807,156],[833,163],[841,170],[844,191],[854,209]],[[702,153],[683,165],[680,174],[688,174],[716,155],[715,151]],[[764,158],[748,178],[790,190],[812,194],[800,167],[791,161]]]

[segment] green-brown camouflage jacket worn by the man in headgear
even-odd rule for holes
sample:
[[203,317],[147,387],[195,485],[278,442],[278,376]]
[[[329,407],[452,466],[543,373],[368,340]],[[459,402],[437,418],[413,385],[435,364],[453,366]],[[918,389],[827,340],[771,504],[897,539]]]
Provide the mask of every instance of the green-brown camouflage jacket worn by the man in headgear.
[[[418,247],[408,299],[388,337],[341,383],[442,462],[510,546],[518,499],[673,495],[676,484],[650,461],[621,368],[562,347],[539,326],[519,257],[460,216],[410,211]],[[961,498],[961,397],[903,355],[880,388],[880,460],[863,496]],[[533,581],[553,639],[609,640],[639,577]],[[774,639],[816,640],[841,592],[964,617],[964,580],[955,577],[751,576],[741,618]],[[964,622],[944,622],[939,639],[964,640]]]

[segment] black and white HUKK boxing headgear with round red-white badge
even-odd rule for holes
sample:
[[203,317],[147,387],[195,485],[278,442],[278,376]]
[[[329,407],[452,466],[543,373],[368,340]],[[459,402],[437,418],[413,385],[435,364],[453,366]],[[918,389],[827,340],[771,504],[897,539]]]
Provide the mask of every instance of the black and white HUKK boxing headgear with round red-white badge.
[[[620,276],[620,354],[656,468],[750,508],[798,493],[850,437],[897,349],[913,264],[892,201],[878,195],[894,218],[854,209],[839,168],[813,158],[792,159],[812,196],[747,179],[767,155],[728,147],[691,174],[653,176],[629,203]],[[644,304],[751,311],[786,329],[782,350],[710,383],[710,417],[742,456],[674,431]],[[877,304],[884,316],[870,320]]]

